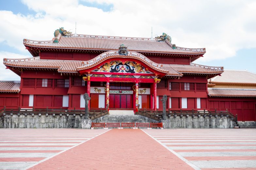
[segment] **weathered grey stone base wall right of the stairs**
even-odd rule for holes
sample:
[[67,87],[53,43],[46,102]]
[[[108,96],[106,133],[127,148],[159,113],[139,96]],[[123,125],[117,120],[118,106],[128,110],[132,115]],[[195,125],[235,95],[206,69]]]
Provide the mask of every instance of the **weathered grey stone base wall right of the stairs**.
[[236,122],[227,116],[170,116],[161,120],[164,128],[233,128]]

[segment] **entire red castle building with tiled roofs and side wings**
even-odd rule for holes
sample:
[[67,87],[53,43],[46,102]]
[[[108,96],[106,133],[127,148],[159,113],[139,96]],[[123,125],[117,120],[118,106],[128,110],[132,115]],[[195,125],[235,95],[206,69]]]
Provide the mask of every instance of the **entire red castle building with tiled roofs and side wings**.
[[162,111],[166,94],[166,110],[228,109],[238,120],[256,120],[256,74],[240,82],[244,74],[196,64],[205,48],[175,46],[165,33],[150,39],[74,35],[60,28],[52,40],[23,43],[33,57],[4,59],[21,81],[0,82],[1,109],[83,110],[88,93],[90,110]]

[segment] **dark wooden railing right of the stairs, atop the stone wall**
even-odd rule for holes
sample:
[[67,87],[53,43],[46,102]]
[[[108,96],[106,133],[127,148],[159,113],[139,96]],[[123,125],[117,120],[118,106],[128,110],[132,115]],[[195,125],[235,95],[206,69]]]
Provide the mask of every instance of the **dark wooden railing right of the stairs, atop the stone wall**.
[[[148,118],[151,118],[153,120],[161,120],[163,119],[163,112],[162,111],[152,111],[152,110],[140,110],[138,112],[136,112],[136,114],[140,114],[142,116],[145,116],[145,117],[148,117]],[[206,111],[206,110],[203,110],[203,111],[194,111],[193,109],[190,110],[190,111],[183,111],[182,109],[180,111],[171,111],[171,110],[168,110],[166,111],[166,115],[168,117],[170,116],[229,116],[232,118],[232,120],[234,121],[237,121],[237,114],[236,115],[233,115],[231,112],[229,112],[227,109],[226,111],[217,111],[215,109],[215,111]]]

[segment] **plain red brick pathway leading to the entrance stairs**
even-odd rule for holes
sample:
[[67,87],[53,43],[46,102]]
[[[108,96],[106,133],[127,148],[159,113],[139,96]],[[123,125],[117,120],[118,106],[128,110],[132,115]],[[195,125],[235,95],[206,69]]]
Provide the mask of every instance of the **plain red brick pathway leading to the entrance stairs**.
[[193,169],[140,129],[113,129],[32,169]]

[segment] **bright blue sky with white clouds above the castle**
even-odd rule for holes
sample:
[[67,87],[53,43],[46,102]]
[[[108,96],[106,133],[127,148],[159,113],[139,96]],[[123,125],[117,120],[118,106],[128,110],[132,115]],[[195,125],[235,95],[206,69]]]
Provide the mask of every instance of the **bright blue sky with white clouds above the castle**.
[[[206,48],[194,61],[256,73],[255,0],[0,0],[0,59],[28,58],[23,39],[52,40],[59,27],[77,34],[155,37]],[[152,32],[151,33],[151,29]],[[20,77],[0,64],[0,80]]]

